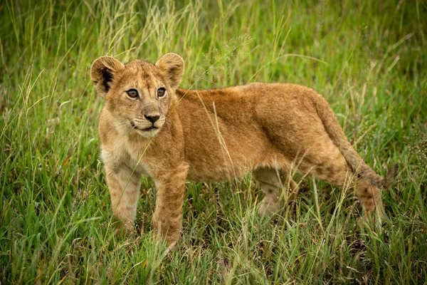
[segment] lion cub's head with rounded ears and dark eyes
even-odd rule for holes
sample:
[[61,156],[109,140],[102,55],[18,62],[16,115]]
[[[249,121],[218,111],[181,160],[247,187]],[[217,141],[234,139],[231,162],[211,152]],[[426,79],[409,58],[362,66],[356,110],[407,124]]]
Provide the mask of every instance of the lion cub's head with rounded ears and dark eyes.
[[167,53],[155,65],[139,60],[123,64],[112,56],[101,56],[90,68],[95,89],[105,98],[117,130],[146,138],[162,128],[183,73],[184,61],[175,53]]

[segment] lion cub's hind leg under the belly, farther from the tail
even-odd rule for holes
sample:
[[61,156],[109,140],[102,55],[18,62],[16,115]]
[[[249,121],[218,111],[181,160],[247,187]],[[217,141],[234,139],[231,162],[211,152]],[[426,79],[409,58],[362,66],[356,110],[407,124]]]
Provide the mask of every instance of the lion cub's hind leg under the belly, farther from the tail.
[[285,191],[285,203],[292,202],[297,196],[297,183],[290,178],[288,172],[285,170],[260,167],[253,171],[252,176],[264,194],[264,199],[261,201],[259,209],[260,215],[265,214],[270,216],[278,212],[280,207],[280,195],[282,194],[281,190],[289,188]]

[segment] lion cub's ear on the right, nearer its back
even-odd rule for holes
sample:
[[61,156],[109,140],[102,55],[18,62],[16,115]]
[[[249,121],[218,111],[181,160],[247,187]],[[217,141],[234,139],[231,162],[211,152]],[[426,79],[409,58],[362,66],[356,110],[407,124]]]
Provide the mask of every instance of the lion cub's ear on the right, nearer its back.
[[176,53],[167,53],[159,58],[156,66],[164,73],[169,85],[173,89],[178,88],[182,74],[184,74],[184,59]]

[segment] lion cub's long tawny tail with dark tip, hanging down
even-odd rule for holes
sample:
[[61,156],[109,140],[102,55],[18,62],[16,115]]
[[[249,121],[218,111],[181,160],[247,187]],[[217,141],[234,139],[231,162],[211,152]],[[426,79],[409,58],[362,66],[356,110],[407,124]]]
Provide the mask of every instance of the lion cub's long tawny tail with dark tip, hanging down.
[[345,160],[352,167],[354,172],[359,173],[360,176],[365,177],[371,185],[374,185],[379,188],[388,188],[394,182],[394,178],[397,175],[399,167],[393,165],[386,177],[383,178],[376,174],[374,170],[371,170],[363,160],[362,157],[354,150],[350,142],[347,140],[344,131],[342,130],[337,117],[335,117],[334,111],[330,108],[330,105],[327,103],[325,98],[322,95],[316,94],[320,100],[313,100],[313,104],[317,109],[317,115],[319,115],[320,120],[325,127],[326,132],[330,135],[330,138],[344,155]]

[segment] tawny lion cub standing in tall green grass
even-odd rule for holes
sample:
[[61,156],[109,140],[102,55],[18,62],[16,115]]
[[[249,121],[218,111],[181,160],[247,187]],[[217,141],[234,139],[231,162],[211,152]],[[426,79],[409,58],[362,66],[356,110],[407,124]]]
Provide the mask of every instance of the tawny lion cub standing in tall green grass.
[[[396,175],[376,174],[348,142],[330,105],[295,84],[252,83],[215,90],[180,89],[184,61],[167,53],[156,64],[93,62],[90,76],[105,99],[99,120],[112,210],[121,227],[135,222],[141,176],[157,187],[154,227],[170,242],[181,230],[185,180],[231,180],[248,170],[271,214],[297,194],[292,167],[332,185],[353,185],[364,217],[382,215],[381,187]],[[356,180],[356,181],[355,181]]]

